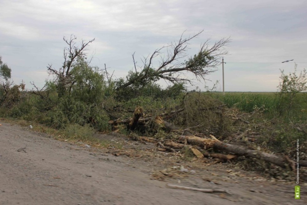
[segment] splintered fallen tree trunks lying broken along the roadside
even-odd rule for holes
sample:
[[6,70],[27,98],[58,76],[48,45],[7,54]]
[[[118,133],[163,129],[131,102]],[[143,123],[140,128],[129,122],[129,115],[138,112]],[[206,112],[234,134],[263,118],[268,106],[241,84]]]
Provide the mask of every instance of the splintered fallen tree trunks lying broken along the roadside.
[[[221,106],[216,107],[217,109],[222,109]],[[211,108],[213,109],[213,108]],[[179,112],[183,111],[183,109],[180,109]],[[189,131],[189,129],[180,129],[178,126],[169,123],[165,120],[163,120],[162,116],[166,116],[166,113],[163,113],[161,116],[147,116],[144,118],[140,118],[142,112],[142,108],[137,107],[134,111],[134,117],[124,120],[114,120],[110,121],[109,123],[111,125],[117,125],[117,124],[127,124],[128,128],[131,128],[132,130],[136,127],[138,123],[145,125],[146,122],[152,121],[158,125],[160,125],[160,128],[167,132],[175,132],[180,133],[178,134],[177,139],[173,140],[153,140],[154,138],[146,137],[139,137],[135,138],[135,140],[145,140],[145,141],[154,141],[157,143],[157,146],[160,146],[165,151],[168,152],[176,152],[178,149],[188,148],[190,149],[195,156],[198,158],[202,158],[204,156],[207,157],[214,157],[219,158],[221,160],[232,160],[235,159],[236,156],[245,156],[248,158],[254,158],[259,160],[264,160],[266,162],[278,165],[282,168],[290,168],[292,170],[295,169],[295,162],[293,160],[290,160],[287,156],[277,156],[274,154],[262,152],[259,150],[253,150],[249,149],[243,146],[238,146],[234,144],[224,143],[220,140],[217,140],[214,136],[210,135],[210,137],[200,137],[204,136],[203,134],[199,133],[196,136],[195,134],[192,134],[192,132]],[[178,111],[176,111],[178,112]],[[143,114],[144,116],[144,114]],[[148,140],[146,140],[148,139]],[[194,147],[199,147],[199,149],[195,149]],[[218,152],[227,152],[230,154],[221,154],[221,153],[209,153],[207,150],[213,148],[214,150]],[[199,150],[202,152],[200,153]],[[301,161],[300,163],[301,167],[307,167],[307,163],[305,161]]]

